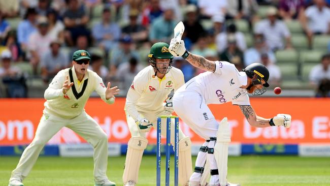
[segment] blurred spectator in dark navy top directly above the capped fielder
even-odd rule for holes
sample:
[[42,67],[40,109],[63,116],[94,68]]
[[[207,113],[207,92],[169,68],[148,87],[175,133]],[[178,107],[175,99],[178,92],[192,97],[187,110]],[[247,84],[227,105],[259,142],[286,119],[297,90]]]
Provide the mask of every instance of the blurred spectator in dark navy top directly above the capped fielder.
[[80,8],[78,0],[65,0],[68,10],[63,14],[65,25],[64,37],[70,46],[73,46],[77,40],[77,36],[86,35],[89,37],[90,33],[87,29],[89,18],[86,12]]

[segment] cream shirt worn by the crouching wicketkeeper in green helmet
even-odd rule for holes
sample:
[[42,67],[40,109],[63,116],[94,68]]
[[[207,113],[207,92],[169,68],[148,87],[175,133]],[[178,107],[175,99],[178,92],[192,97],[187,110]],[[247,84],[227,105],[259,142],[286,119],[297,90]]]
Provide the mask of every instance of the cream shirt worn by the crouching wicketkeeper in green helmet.
[[152,115],[162,111],[163,102],[170,92],[184,84],[182,71],[175,67],[162,79],[154,75],[152,66],[144,68],[134,77],[127,92],[125,111],[135,120],[141,113]]

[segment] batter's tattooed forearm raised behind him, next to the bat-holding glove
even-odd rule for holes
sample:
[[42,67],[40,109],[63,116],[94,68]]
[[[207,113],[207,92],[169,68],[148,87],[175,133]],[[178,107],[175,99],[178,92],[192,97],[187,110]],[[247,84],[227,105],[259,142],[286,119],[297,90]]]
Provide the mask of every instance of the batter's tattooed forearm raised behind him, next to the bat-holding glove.
[[200,69],[206,70],[206,71],[210,71],[210,72],[214,72],[215,71],[215,63],[214,61],[210,61],[207,60],[205,57],[200,56],[200,55],[195,55],[192,53],[189,53],[188,57],[187,57],[187,61]]

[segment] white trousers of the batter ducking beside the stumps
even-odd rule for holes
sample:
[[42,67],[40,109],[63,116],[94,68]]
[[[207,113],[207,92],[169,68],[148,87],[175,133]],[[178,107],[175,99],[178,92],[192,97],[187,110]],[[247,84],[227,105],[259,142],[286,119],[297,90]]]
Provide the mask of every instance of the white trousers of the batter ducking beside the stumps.
[[180,89],[173,96],[175,113],[202,138],[209,140],[210,137],[216,137],[219,123],[206,105],[205,99],[197,92]]

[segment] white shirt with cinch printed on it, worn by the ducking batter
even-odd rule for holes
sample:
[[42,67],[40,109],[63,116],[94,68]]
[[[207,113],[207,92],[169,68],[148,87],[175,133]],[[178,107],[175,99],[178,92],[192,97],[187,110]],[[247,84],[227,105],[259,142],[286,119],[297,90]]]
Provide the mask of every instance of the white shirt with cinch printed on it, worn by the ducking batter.
[[190,79],[182,86],[181,91],[199,93],[206,104],[250,105],[246,89],[240,88],[247,84],[245,72],[239,72],[234,64],[227,61],[215,61],[215,72],[204,72]]

